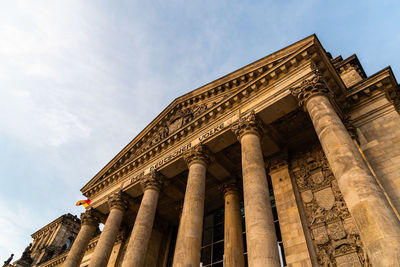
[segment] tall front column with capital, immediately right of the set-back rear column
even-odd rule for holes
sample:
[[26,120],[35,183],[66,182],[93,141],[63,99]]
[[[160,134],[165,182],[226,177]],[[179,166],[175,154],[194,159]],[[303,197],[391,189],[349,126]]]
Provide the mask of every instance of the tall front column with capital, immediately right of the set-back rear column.
[[261,129],[254,112],[232,125],[242,148],[247,255],[250,267],[278,267],[278,243],[261,150]]

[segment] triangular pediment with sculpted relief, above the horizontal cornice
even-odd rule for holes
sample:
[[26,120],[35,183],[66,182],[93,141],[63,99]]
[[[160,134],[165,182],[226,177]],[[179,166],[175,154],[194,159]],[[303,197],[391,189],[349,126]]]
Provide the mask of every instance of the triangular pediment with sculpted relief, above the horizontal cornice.
[[87,192],[121,166],[146,153],[153,146],[178,132],[196,117],[212,109],[224,99],[231,97],[257,77],[281,65],[288,58],[300,53],[304,47],[319,43],[312,35],[269,56],[225,75],[211,83],[176,98],[141,133],[139,133],[114,159],[87,183],[81,191]]

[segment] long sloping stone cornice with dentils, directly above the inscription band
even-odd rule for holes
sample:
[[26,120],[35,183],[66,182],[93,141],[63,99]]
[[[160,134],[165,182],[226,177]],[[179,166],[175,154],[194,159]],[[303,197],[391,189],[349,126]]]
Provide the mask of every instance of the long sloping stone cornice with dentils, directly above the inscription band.
[[157,156],[159,153],[166,150],[175,142],[181,140],[193,131],[200,129],[210,120],[216,119],[227,109],[231,109],[238,103],[243,101],[243,99],[254,95],[254,93],[257,92],[261,87],[265,87],[268,84],[274,83],[279,76],[285,75],[287,72],[289,72],[290,69],[295,68],[304,60],[309,60],[310,58],[315,59],[316,57],[318,57],[318,55],[316,55],[316,51],[318,49],[320,48],[315,47],[313,39],[310,39],[308,43],[300,47],[297,51],[294,51],[291,55],[287,56],[285,60],[279,62],[271,69],[268,69],[264,73],[262,71],[260,71],[260,74],[255,73],[256,77],[253,80],[245,83],[243,86],[239,86],[237,89],[235,89],[234,93],[224,98],[217,105],[206,110],[206,112],[191,120],[178,131],[167,136],[165,139],[162,140],[162,142],[157,143],[152,147],[149,147],[147,151],[144,151],[142,154],[138,155],[130,162],[125,164],[121,163],[120,167],[117,168],[116,171],[111,172],[106,176],[104,176],[103,174],[104,177],[102,179],[100,179],[99,177],[99,182],[96,182],[94,184],[89,183],[88,185],[86,185],[82,189],[82,192],[85,196],[92,197],[94,195],[97,195],[104,188],[118,183],[121,177],[125,177],[133,170],[137,170],[138,168],[140,168],[140,166],[146,164],[150,158]]

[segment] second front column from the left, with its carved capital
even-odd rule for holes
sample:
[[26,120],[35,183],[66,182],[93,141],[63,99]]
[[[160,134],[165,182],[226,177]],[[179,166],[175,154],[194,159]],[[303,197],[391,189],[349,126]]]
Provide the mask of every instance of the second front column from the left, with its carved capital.
[[121,226],[122,217],[128,207],[128,202],[121,191],[113,194],[108,199],[108,204],[110,213],[108,214],[106,224],[104,225],[103,232],[101,232],[93,255],[90,258],[89,267],[107,266],[115,239],[117,238]]

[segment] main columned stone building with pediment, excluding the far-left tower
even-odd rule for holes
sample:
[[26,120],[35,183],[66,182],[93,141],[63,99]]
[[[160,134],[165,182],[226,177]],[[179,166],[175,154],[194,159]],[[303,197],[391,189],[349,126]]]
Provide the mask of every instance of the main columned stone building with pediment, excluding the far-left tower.
[[38,266],[400,266],[399,111],[390,67],[309,36],[174,100]]

